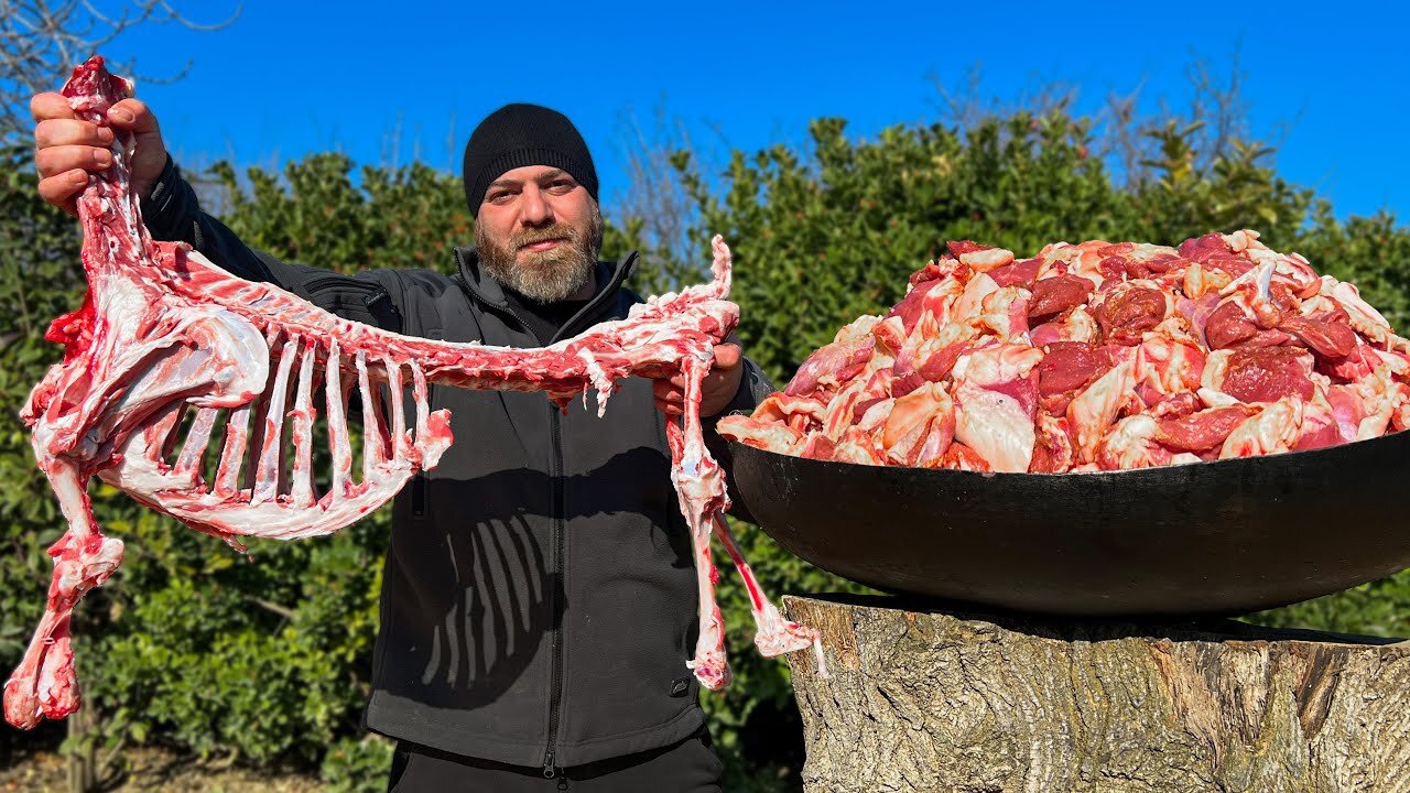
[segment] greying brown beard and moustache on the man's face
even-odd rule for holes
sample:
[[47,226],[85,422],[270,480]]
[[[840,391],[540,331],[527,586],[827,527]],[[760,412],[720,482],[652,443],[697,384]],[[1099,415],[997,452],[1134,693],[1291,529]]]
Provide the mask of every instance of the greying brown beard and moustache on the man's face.
[[[543,240],[564,240],[546,251],[523,251]],[[475,227],[475,251],[479,267],[501,285],[540,303],[567,299],[592,278],[602,250],[602,212],[592,202],[587,233],[554,223],[543,229],[526,229],[509,237],[506,246],[491,240]]]

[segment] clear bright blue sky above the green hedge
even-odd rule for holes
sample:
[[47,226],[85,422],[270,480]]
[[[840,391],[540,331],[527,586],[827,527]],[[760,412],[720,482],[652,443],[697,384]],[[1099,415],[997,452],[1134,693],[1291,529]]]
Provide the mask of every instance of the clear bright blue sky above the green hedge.
[[[179,3],[214,21],[234,0]],[[1203,58],[1245,72],[1255,133],[1283,138],[1279,171],[1338,214],[1410,216],[1410,11],[1390,3],[274,3],[230,27],[124,34],[104,54],[189,73],[145,83],[180,161],[279,165],[341,150],[360,164],[420,158],[458,171],[471,128],[508,102],[563,110],[594,151],[605,198],[625,186],[623,119],[663,109],[721,157],[802,143],[819,116],[856,135],[938,117],[933,78],[1021,100],[1062,80],[1079,110],[1141,87],[1189,96]],[[393,145],[396,141],[399,145]]]

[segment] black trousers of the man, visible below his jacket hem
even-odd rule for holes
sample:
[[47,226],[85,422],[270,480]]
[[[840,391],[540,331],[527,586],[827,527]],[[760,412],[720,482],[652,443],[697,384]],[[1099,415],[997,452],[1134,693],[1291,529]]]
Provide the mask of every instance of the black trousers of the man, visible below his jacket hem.
[[721,793],[725,763],[705,728],[680,744],[558,769],[523,768],[396,745],[388,793]]

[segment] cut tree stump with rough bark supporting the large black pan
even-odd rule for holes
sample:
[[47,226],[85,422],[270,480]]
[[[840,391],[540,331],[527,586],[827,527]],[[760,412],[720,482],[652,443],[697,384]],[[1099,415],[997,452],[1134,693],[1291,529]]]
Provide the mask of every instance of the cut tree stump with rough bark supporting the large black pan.
[[807,793],[1410,790],[1394,639],[784,604],[826,659],[788,658]]

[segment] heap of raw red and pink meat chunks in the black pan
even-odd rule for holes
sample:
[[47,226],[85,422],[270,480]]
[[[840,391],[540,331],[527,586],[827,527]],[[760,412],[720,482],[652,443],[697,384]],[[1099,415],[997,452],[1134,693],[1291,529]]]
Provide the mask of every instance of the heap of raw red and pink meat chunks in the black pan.
[[911,275],[753,416],[761,449],[1001,473],[1141,468],[1320,449],[1410,426],[1410,341],[1255,231],[1179,248],[974,243]]

